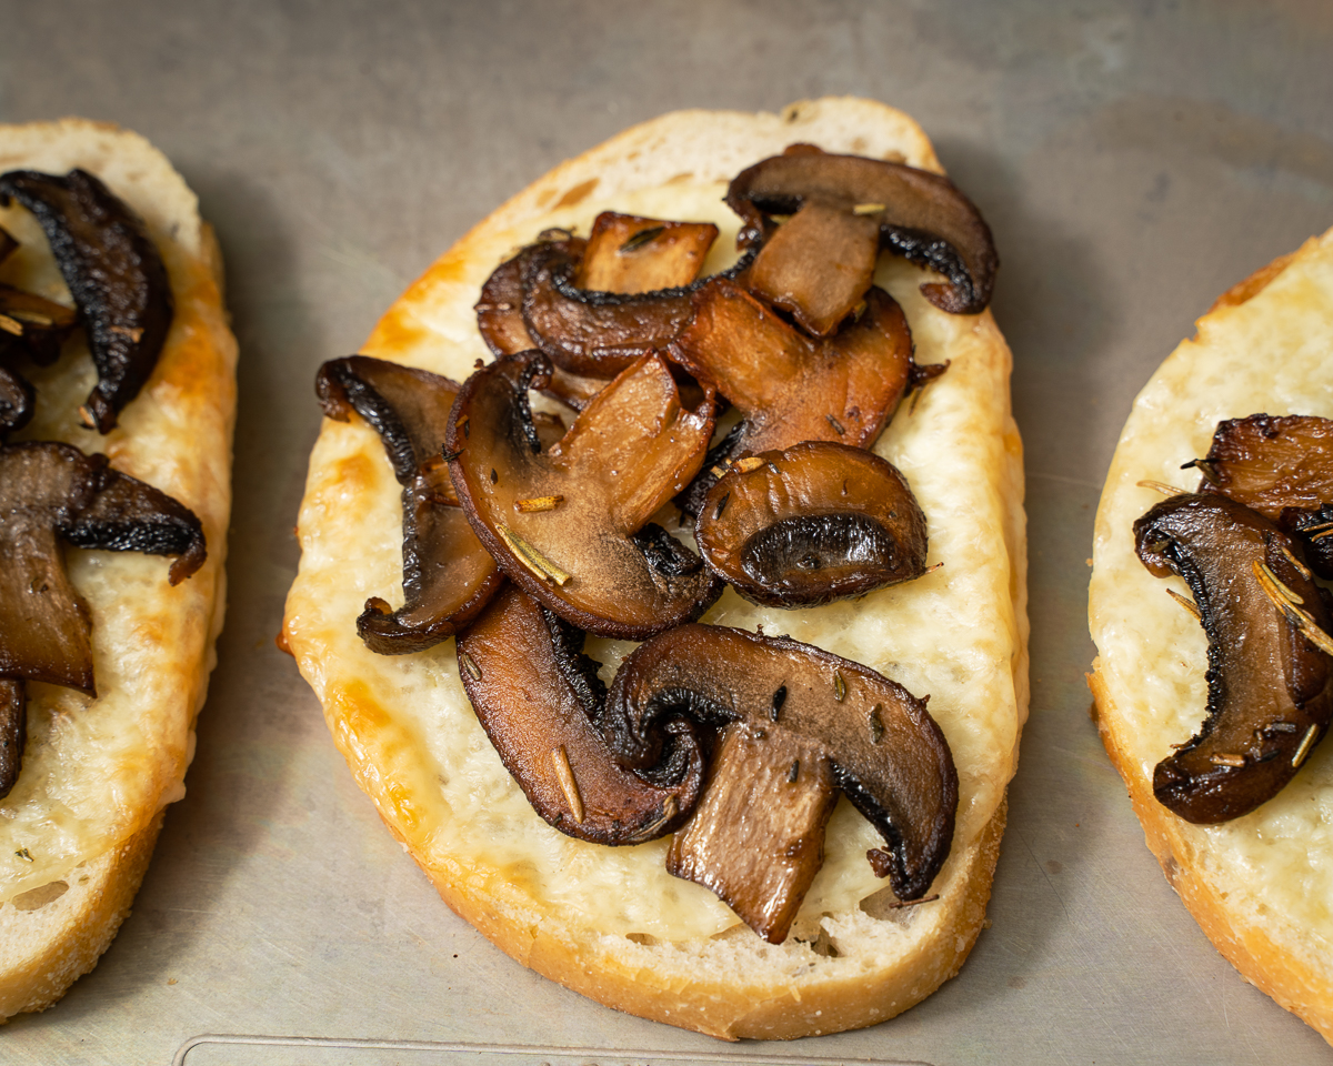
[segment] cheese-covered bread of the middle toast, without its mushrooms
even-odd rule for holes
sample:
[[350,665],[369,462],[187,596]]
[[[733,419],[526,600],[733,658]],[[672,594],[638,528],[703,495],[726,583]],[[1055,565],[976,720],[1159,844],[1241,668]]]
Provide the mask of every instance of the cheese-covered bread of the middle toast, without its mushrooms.
[[[858,139],[866,155],[901,152],[938,167],[900,112],[853,100],[802,108],[793,121],[668,115],[564,164],[445,253],[363,352],[463,381],[475,360],[491,360],[472,310],[491,270],[547,227],[587,233],[604,209],[716,223],[721,236],[704,268],[716,270],[736,256],[738,220],[721,203],[726,181],[792,141],[852,151]],[[577,204],[545,207],[592,176],[595,189]],[[874,905],[886,882],[874,878],[865,853],[882,842],[845,800],[829,823],[824,867],[778,946],[740,926],[706,889],[670,877],[666,841],[600,847],[548,826],[477,724],[453,641],[385,657],[357,638],[367,597],[403,602],[400,486],[377,434],[359,418],[325,420],[315,445],[285,632],[339,748],[451,906],[520,962],[611,1006],[733,1038],[869,1025],[953,975],[980,929],[1026,714],[1010,357],[989,313],[933,308],[917,288],[918,269],[885,257],[876,280],[904,305],[917,361],[952,360],[914,406],[902,405],[876,446],[910,482],[929,521],[929,562],[942,568],[817,610],[758,608],[728,590],[702,621],[761,625],[929,694],[961,792],[933,903]],[[632,648],[589,638],[587,650],[609,678]]]

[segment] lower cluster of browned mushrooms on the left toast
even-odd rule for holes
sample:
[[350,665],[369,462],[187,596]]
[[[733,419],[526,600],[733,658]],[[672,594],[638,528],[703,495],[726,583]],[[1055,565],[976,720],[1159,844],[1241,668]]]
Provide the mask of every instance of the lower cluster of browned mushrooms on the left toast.
[[[193,512],[165,493],[68,444],[0,448],[0,797],[13,788],[23,750],[21,685],[44,681],[96,694],[88,609],[65,576],[60,538],[76,548],[176,556],[172,585],[207,556]],[[16,694],[17,692],[17,694]],[[13,730],[20,730],[15,733]]]

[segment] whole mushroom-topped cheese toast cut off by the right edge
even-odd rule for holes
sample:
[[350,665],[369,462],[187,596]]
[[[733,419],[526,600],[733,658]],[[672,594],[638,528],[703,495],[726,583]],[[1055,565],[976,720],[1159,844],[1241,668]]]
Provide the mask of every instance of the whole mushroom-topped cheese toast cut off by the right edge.
[[1097,722],[1217,949],[1333,1041],[1333,231],[1224,294],[1097,512]]

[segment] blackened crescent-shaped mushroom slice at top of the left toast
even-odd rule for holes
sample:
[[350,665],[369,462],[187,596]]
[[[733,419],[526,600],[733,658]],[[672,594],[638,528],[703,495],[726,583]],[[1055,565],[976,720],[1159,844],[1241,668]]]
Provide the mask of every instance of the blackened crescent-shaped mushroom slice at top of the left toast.
[[152,373],[171,329],[167,268],[143,221],[89,173],[0,175],[0,203],[17,200],[41,224],[88,329],[97,385],[88,413],[109,433]]

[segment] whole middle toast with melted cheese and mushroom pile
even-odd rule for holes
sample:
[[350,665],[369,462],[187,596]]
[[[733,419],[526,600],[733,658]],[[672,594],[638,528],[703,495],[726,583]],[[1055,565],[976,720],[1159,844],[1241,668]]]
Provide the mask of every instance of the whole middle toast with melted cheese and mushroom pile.
[[668,115],[320,370],[285,640],[449,906],[609,1006],[833,1033],[981,929],[1021,446],[940,169],[870,101]]

